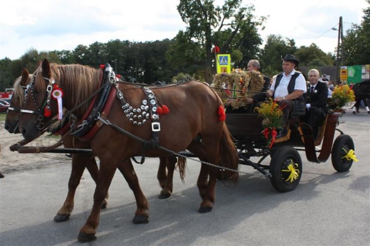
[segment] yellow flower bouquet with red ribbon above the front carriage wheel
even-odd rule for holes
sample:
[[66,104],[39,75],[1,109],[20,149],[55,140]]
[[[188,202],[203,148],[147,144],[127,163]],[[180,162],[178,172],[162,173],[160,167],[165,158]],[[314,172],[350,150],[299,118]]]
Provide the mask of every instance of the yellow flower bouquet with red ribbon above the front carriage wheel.
[[263,118],[262,127],[264,129],[261,133],[267,139],[269,149],[271,149],[275,142],[277,130],[282,128],[283,108],[284,106],[280,107],[272,98],[269,98],[268,101],[256,108],[259,117]]

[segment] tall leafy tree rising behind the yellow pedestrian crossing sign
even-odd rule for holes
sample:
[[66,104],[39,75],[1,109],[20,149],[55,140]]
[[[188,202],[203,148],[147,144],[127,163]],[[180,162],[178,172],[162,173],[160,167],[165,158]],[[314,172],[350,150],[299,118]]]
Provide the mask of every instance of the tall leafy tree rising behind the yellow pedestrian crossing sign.
[[240,49],[244,43],[241,40],[246,40],[242,37],[246,36],[248,27],[257,29],[261,25],[260,21],[254,21],[253,5],[239,7],[241,3],[242,0],[225,0],[220,7],[214,5],[214,0],[180,0],[177,7],[182,20],[188,24],[186,36],[203,50],[208,83],[212,82],[214,73],[212,45],[218,44],[221,52],[232,53],[233,49]]

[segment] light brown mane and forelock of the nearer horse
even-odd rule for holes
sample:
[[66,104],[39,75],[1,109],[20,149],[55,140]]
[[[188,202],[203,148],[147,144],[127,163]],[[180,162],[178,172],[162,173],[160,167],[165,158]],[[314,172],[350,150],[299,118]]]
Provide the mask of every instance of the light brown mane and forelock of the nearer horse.
[[[72,105],[86,99],[90,94],[97,89],[99,85],[99,71],[91,66],[80,64],[50,64],[51,77],[55,80],[64,92],[70,93]],[[46,93],[45,83],[40,83],[43,80],[42,73],[39,72],[35,88],[38,92]],[[66,95],[65,95],[66,96]],[[77,111],[85,112],[89,104],[85,103]]]

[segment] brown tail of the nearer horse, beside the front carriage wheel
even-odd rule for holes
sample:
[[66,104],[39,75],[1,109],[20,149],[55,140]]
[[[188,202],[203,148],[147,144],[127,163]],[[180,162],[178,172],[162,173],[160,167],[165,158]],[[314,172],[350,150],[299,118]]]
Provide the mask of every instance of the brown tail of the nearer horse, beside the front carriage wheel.
[[[223,123],[222,125],[222,135],[219,145],[219,156],[223,167],[238,170],[239,167],[238,152],[236,150],[235,144],[231,138],[231,134],[228,131],[225,123]],[[226,177],[232,179],[234,183],[236,183],[239,177],[239,173],[227,171]]]

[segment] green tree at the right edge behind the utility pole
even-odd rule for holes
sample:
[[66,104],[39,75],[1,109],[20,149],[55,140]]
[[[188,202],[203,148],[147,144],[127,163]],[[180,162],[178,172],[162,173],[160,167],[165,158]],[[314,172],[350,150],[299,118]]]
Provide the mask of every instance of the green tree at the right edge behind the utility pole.
[[[366,0],[370,4],[370,0]],[[344,36],[344,59],[346,65],[370,63],[370,6],[364,9],[360,25],[352,24]]]

